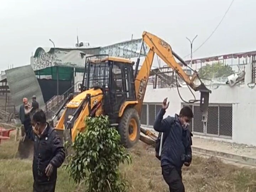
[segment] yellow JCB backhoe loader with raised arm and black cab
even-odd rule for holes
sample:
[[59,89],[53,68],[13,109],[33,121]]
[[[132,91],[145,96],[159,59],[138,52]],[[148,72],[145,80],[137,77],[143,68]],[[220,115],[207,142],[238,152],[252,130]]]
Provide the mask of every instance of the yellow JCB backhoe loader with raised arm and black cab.
[[[135,70],[133,70],[134,62],[128,59],[108,55],[93,55],[86,58],[84,77],[82,84],[79,85],[81,93],[75,97],[70,95],[66,98],[53,117],[53,119],[57,117],[58,113],[65,108],[55,126],[60,135],[64,135],[65,140],[74,142],[76,135],[86,129],[84,122],[86,116],[101,114],[109,116],[110,123],[118,129],[121,142],[126,148],[138,142],[140,130],[154,138],[152,133],[140,128],[140,113],[154,54],[170,66],[194,91],[201,92],[200,100],[190,102],[200,101],[202,121],[207,121],[211,91],[202,83],[198,73],[194,71],[190,78],[174,57],[183,65],[187,66],[187,64],[164,40],[148,32],[143,32],[142,37],[140,53],[142,50],[145,52],[144,43],[149,47],[149,52],[139,71],[140,57],[137,59]],[[201,85],[194,84],[196,78]]]

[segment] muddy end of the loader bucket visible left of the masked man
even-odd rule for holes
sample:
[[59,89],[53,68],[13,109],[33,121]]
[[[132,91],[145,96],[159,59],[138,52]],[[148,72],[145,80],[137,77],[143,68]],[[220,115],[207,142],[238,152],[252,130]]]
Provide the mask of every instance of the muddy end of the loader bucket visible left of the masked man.
[[26,137],[24,134],[19,140],[17,158],[28,159],[32,158],[34,154],[34,142]]

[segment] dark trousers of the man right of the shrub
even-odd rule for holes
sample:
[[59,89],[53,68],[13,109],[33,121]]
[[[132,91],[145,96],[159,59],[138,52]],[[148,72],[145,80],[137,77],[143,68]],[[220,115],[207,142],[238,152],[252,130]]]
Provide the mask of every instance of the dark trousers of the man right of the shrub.
[[181,169],[176,169],[174,166],[162,166],[162,175],[169,185],[170,192],[185,192],[181,174]]

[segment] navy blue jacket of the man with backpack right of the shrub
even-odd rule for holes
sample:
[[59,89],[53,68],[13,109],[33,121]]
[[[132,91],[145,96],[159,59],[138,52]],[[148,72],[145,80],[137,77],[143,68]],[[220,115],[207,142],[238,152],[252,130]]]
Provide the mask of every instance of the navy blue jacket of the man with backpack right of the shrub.
[[[191,133],[190,130],[181,126],[178,115],[163,119],[165,110],[161,108],[154,122],[154,129],[158,132],[167,133],[161,153],[161,166],[171,165],[181,169],[184,164],[182,155],[191,155]],[[173,122],[173,123],[172,123]]]

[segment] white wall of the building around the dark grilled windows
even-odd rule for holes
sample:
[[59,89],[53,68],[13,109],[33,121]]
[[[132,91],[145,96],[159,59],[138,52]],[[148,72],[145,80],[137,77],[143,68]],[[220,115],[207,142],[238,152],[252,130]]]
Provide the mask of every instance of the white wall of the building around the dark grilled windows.
[[[209,103],[227,103],[233,106],[232,139],[214,139],[256,146],[256,88],[241,84],[234,87],[220,85],[218,88],[208,87],[208,89],[212,90]],[[193,95],[187,87],[180,87],[179,91],[185,101],[193,99]],[[200,98],[199,92],[194,92],[194,94],[197,99]],[[165,116],[173,116],[175,113],[179,113],[183,102],[178,95],[177,87],[153,89],[153,86],[148,86],[144,102],[161,103],[165,97],[168,97],[170,101]]]

